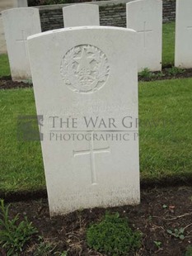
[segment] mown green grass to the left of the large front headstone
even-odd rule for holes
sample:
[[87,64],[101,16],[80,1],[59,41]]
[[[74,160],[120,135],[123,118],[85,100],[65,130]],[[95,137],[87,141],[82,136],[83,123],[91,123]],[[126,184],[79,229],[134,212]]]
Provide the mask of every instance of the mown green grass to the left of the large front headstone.
[[0,99],[0,190],[44,188],[40,142],[17,140],[17,116],[35,114],[33,90],[1,90]]

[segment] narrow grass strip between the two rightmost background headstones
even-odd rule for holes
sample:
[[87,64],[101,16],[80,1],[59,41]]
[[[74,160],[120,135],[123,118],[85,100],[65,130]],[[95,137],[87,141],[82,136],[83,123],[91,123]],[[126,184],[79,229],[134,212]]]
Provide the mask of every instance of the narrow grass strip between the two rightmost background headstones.
[[162,65],[173,65],[175,59],[175,22],[162,25]]

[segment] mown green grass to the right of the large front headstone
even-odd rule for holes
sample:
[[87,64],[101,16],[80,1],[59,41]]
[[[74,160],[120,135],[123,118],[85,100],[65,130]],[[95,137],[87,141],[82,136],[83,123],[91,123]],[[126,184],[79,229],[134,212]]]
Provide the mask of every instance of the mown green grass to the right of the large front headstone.
[[142,178],[192,174],[191,109],[192,78],[139,84]]

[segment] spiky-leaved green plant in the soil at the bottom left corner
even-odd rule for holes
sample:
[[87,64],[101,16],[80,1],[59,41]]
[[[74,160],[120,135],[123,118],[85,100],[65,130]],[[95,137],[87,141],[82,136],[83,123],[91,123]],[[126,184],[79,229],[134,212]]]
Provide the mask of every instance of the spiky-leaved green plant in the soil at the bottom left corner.
[[21,254],[24,246],[37,230],[26,217],[19,221],[19,215],[16,215],[10,220],[9,206],[5,206],[4,201],[0,200],[0,245],[5,249],[7,256],[16,256]]

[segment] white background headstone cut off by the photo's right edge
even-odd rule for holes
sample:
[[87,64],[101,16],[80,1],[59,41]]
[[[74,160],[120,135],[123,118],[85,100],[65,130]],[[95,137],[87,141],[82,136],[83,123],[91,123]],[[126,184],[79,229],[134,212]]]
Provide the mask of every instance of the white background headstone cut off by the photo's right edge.
[[192,1],[176,1],[175,66],[192,68]]

